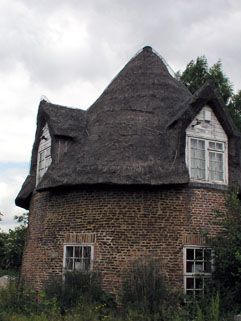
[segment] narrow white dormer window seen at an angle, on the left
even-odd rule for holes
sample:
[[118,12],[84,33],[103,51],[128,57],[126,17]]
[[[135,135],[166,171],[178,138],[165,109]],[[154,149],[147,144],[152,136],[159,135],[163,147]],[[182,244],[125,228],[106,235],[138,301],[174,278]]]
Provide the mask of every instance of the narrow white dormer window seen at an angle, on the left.
[[42,135],[40,136],[39,148],[38,148],[38,160],[37,160],[37,179],[38,184],[44,174],[47,172],[50,164],[52,162],[51,158],[51,136],[49,133],[48,124],[44,126],[42,130]]

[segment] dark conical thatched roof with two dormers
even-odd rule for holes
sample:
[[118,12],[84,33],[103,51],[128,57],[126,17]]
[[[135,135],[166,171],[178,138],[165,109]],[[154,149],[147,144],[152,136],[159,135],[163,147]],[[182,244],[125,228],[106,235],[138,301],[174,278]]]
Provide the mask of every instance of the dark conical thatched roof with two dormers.
[[[143,48],[87,111],[42,101],[31,176],[17,205],[28,206],[34,190],[37,148],[45,122],[53,139],[53,156],[58,138],[71,143],[58,162],[53,157],[38,191],[86,184],[187,184],[185,128],[205,103],[214,106],[228,136],[238,141],[216,89],[208,83],[192,96],[151,47]],[[234,161],[237,157],[239,153]]]

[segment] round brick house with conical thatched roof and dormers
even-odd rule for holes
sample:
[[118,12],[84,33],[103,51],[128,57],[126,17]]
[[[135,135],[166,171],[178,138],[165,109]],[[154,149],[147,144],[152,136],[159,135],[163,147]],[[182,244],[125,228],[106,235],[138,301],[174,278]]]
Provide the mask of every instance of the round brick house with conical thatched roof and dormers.
[[30,211],[22,277],[41,289],[98,269],[116,293],[122,270],[151,255],[173,287],[199,293],[212,272],[200,229],[217,232],[229,185],[241,186],[240,134],[217,89],[192,95],[145,47],[88,110],[40,102],[16,198]]

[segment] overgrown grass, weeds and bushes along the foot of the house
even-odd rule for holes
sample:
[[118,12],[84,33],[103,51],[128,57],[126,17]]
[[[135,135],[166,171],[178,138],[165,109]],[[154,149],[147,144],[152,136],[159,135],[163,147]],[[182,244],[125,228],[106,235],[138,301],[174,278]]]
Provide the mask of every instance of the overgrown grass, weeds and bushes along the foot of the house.
[[123,275],[120,309],[96,273],[50,280],[40,296],[11,281],[0,289],[0,321],[233,321],[232,311],[220,309],[218,293],[187,300],[168,290],[161,271],[156,261],[135,262]]

